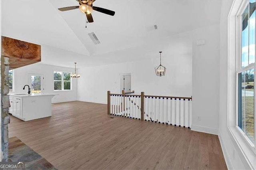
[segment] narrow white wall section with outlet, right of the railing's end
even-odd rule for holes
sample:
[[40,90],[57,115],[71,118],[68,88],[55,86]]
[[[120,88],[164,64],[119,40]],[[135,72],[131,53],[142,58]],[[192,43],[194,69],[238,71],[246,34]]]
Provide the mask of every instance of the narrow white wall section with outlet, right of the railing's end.
[[[193,35],[192,130],[218,134],[219,127],[219,26],[191,32]],[[205,40],[205,45],[196,45]],[[198,121],[200,117],[200,121]]]

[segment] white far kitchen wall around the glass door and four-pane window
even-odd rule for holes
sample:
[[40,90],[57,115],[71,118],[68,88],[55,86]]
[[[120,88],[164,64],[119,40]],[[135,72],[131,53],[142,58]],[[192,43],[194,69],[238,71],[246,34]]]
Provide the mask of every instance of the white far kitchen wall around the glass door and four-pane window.
[[29,75],[43,74],[44,75],[44,93],[58,94],[53,97],[52,103],[76,101],[77,99],[77,80],[72,79],[72,91],[54,91],[53,72],[54,71],[69,71],[74,72],[74,68],[58,67],[53,65],[45,65],[35,63],[14,69],[14,93],[28,93],[28,88],[23,90],[24,85],[29,85]]

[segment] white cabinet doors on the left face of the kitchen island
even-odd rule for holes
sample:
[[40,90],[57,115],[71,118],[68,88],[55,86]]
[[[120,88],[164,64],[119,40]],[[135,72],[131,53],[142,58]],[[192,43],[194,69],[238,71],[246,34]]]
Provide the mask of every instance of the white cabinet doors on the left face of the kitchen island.
[[22,97],[13,97],[10,96],[10,109],[9,112],[20,119],[23,118],[22,114]]

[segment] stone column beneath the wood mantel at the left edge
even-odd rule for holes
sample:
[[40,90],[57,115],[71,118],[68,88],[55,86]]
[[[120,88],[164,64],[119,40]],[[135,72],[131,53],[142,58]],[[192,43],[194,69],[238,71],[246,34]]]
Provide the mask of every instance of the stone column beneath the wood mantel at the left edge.
[[1,56],[1,161],[8,161],[8,124],[10,123],[9,107],[9,58]]

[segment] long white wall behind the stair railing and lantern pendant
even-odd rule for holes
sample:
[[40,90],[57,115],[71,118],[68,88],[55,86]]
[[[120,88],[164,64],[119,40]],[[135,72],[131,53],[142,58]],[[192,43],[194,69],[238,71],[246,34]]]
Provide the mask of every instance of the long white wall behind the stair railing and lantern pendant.
[[[106,103],[108,90],[111,93],[120,93],[122,73],[131,73],[132,90],[137,94],[144,91],[146,95],[190,97],[192,44],[176,38],[168,41],[167,46],[172,44],[170,41],[174,44],[162,53],[166,76],[156,76],[154,67],[159,65],[160,55],[158,49],[152,48],[150,50],[155,53],[155,57],[147,60],[79,69],[81,77],[78,79],[78,100]],[[162,49],[164,47],[163,45]]]

